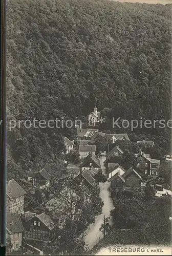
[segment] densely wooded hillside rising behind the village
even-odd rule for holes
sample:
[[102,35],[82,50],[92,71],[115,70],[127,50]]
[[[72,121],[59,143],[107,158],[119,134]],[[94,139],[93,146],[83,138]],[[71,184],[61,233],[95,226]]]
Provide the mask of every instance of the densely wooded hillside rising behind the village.
[[[9,0],[7,26],[8,121],[81,118],[95,102],[114,117],[170,119],[171,5]],[[137,138],[168,151],[169,130]],[[9,177],[55,159],[75,133],[8,131]]]

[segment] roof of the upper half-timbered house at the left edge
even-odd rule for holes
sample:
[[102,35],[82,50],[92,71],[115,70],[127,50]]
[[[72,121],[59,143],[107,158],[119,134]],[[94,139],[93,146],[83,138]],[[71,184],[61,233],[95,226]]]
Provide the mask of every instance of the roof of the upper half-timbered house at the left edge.
[[15,180],[7,182],[6,193],[11,199],[26,195],[26,191]]

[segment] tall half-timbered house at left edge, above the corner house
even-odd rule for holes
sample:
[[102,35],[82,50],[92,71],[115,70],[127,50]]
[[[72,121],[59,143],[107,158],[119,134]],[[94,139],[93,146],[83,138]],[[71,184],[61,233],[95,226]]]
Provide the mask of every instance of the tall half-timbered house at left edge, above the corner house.
[[15,181],[9,180],[6,186],[6,212],[24,213],[24,196],[26,191]]

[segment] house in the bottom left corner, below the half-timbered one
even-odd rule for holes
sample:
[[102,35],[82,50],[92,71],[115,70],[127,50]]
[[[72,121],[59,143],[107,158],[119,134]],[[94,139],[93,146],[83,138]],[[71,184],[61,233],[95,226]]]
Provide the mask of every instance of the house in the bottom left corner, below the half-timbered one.
[[10,237],[11,239],[11,250],[18,250],[22,245],[22,239],[24,236],[24,227],[22,221],[17,213],[13,214],[12,212],[6,215],[7,224],[6,224],[6,238]]

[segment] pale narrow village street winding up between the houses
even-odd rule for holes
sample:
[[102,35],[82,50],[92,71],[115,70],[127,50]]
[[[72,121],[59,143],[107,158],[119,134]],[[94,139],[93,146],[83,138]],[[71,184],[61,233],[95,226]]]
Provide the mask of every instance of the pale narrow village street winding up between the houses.
[[[99,158],[103,174],[105,174],[105,167],[103,165],[105,159],[105,156],[100,156]],[[88,233],[85,237],[85,243],[90,249],[92,249],[98,243],[99,239],[103,238],[103,233],[99,231],[99,228],[104,221],[104,216],[105,218],[110,217],[110,211],[114,208],[109,191],[110,183],[108,181],[105,183],[100,183],[99,187],[100,197],[104,202],[104,205],[102,208],[102,214],[96,217],[95,223],[91,224],[90,228],[87,230]],[[110,222],[110,224],[112,224],[112,222]]]

